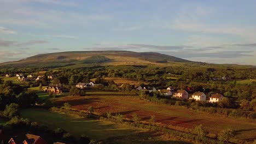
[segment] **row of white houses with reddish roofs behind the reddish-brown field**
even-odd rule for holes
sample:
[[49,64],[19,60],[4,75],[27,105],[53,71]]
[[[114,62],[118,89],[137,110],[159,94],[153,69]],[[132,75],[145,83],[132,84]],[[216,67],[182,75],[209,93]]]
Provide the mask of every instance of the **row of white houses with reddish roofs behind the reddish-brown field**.
[[[134,88],[138,89],[139,91],[148,91],[148,92],[156,92],[157,91],[155,87],[143,87],[142,88],[141,86],[136,85]],[[224,98],[222,94],[215,93],[215,94],[212,94],[211,97],[206,99],[206,95],[203,92],[194,92],[189,97],[189,94],[187,91],[185,91],[183,89],[178,89],[177,91],[174,91],[173,87],[168,87],[166,89],[159,89],[158,91],[162,95],[166,95],[166,96],[172,95],[174,98],[180,98],[183,100],[195,99],[195,100],[199,100],[199,101],[208,101],[209,103],[216,103]]]

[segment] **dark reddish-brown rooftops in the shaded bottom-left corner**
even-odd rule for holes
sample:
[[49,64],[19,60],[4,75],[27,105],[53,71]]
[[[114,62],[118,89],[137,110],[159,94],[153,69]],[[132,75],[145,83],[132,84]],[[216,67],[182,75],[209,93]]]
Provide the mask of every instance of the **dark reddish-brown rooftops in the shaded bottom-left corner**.
[[[55,142],[56,144],[65,144],[61,142]],[[8,144],[47,144],[47,142],[40,136],[26,134],[25,137],[11,137]]]

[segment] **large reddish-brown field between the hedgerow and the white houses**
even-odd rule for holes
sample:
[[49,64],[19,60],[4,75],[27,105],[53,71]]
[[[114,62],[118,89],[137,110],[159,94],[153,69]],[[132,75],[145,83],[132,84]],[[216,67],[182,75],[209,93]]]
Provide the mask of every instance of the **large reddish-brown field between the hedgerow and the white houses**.
[[131,118],[133,113],[137,113],[143,121],[148,121],[150,116],[155,115],[156,122],[186,129],[193,129],[196,125],[202,124],[211,134],[218,134],[223,129],[231,128],[238,139],[256,139],[255,120],[199,113],[179,106],[157,105],[129,94],[88,92],[86,97],[69,96],[54,98],[51,101],[57,105],[69,103],[79,110],[87,110],[92,106],[95,113],[105,116],[109,111],[112,115],[120,113],[126,118]]

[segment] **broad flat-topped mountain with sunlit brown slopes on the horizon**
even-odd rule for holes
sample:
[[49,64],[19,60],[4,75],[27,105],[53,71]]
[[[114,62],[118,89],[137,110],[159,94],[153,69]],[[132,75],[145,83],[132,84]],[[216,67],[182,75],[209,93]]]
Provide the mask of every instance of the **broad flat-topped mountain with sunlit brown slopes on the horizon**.
[[15,62],[0,63],[0,67],[42,67],[57,68],[75,65],[148,65],[191,62],[186,59],[164,55],[157,52],[132,51],[69,51],[45,53]]

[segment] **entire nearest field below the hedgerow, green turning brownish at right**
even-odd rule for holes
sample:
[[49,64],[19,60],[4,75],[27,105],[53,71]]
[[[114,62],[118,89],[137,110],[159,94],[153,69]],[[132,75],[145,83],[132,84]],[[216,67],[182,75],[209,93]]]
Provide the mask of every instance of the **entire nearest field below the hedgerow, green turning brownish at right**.
[[[39,122],[50,129],[63,128],[77,139],[81,135],[91,139],[105,140],[106,143],[186,143],[183,141],[161,140],[154,131],[135,129],[96,119],[72,117],[65,114],[53,113],[44,109],[24,109],[21,117],[30,118],[32,122]],[[150,137],[150,139],[149,139]],[[132,140],[131,140],[132,139]]]

